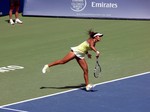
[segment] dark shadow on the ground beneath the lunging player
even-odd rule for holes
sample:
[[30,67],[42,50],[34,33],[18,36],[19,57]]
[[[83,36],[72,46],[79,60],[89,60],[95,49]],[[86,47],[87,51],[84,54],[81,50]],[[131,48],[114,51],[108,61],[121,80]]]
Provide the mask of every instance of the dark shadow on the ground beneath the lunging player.
[[[75,85],[75,86],[63,86],[63,87],[45,87],[42,86],[40,87],[40,89],[80,89],[83,91],[86,91],[85,89],[85,84],[80,84],[80,85]],[[86,91],[86,92],[96,92],[97,90],[92,89],[90,91]]]

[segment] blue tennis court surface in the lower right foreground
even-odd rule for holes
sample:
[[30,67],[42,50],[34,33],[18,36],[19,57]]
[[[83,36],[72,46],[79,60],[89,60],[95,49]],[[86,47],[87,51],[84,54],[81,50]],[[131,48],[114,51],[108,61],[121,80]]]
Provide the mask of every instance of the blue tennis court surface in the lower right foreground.
[[0,107],[0,112],[149,112],[150,72]]

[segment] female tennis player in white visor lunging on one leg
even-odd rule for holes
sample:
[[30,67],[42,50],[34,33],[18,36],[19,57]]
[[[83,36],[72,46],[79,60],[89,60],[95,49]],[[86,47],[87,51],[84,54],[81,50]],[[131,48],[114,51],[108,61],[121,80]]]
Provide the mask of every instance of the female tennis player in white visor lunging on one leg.
[[88,58],[91,58],[91,54],[89,54],[88,51],[93,50],[96,53],[96,57],[97,58],[99,57],[100,52],[96,49],[95,45],[97,42],[101,41],[101,37],[103,36],[103,34],[94,32],[92,30],[89,30],[88,34],[89,38],[86,41],[84,41],[83,43],[81,43],[76,47],[71,47],[71,51],[64,58],[45,65],[44,68],[42,69],[42,72],[46,73],[52,66],[65,64],[72,59],[76,59],[76,61],[78,62],[84,73],[86,90],[87,91],[91,90],[93,88],[93,85],[89,84],[88,65],[85,61],[84,56],[86,54]]

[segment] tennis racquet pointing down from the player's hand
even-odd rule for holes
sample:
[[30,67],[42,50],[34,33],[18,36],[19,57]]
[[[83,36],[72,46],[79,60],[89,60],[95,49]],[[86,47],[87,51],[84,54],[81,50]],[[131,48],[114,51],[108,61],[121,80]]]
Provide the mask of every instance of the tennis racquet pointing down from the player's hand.
[[96,58],[95,68],[94,68],[94,77],[98,78],[101,75],[101,66],[99,64],[98,58]]

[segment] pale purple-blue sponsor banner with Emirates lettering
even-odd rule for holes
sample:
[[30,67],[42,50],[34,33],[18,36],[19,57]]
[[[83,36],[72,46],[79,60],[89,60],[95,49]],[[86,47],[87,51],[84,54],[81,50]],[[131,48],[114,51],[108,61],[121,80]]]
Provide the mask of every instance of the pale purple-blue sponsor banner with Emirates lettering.
[[150,19],[150,0],[25,0],[23,15]]

